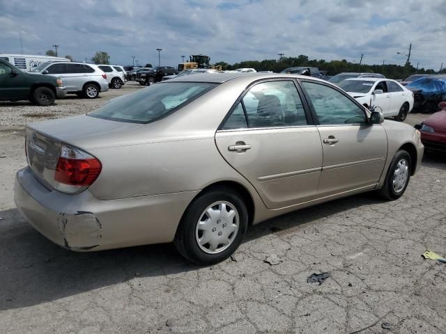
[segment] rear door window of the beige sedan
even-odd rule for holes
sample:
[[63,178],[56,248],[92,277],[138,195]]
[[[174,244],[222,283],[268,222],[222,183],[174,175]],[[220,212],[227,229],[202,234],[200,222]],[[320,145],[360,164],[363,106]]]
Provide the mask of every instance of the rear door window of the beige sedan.
[[293,81],[257,84],[243,97],[249,127],[307,125],[304,107]]

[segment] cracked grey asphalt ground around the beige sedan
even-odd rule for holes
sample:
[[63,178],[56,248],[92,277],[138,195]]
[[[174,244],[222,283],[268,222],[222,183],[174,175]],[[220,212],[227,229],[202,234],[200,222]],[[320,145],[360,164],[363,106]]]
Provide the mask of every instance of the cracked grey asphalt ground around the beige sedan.
[[196,267],[171,244],[73,253],[33,230],[13,204],[22,129],[0,127],[1,333],[446,333],[446,265],[421,257],[446,253],[446,157],[426,155],[400,200],[286,214]]

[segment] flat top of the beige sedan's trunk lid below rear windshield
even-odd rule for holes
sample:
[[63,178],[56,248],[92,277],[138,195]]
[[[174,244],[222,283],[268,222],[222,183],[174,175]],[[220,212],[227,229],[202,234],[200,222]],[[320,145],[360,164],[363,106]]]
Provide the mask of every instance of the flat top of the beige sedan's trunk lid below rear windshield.
[[54,141],[68,143],[78,148],[93,149],[140,142],[143,136],[141,138],[135,136],[135,130],[144,125],[80,115],[34,122],[28,127]]

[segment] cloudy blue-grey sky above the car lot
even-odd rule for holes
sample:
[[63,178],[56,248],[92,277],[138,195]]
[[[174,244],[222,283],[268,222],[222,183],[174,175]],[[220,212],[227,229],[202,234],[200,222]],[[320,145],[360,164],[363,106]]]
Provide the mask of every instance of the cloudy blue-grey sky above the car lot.
[[0,53],[79,61],[107,51],[113,63],[176,65],[306,54],[325,60],[446,66],[446,0],[0,0]]

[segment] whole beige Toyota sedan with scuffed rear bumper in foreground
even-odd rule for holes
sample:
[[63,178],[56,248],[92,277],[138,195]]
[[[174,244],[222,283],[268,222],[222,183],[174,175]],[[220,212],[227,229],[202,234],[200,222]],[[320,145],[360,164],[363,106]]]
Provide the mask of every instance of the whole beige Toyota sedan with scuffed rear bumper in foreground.
[[206,73],[26,126],[15,203],[65,248],[174,241],[220,262],[249,225],[364,191],[400,198],[420,168],[413,127],[326,81]]

